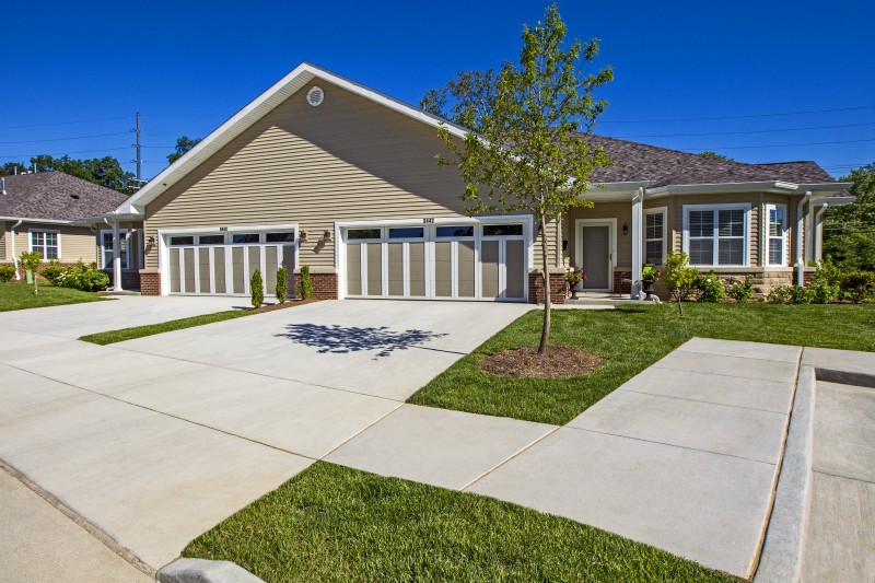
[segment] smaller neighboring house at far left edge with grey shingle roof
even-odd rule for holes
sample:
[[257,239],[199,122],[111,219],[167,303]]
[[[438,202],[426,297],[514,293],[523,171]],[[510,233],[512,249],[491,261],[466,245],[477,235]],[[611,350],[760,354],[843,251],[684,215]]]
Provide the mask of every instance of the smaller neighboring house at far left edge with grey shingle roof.
[[[62,172],[4,176],[0,194],[0,263],[16,264],[21,252],[34,250],[46,263],[71,265],[82,260],[110,268],[106,263],[113,252],[110,226],[77,221],[112,212],[125,200],[125,195]],[[136,241],[128,237],[120,243],[126,255],[132,254],[129,270],[136,276],[140,267],[136,265]]]

